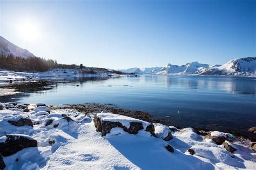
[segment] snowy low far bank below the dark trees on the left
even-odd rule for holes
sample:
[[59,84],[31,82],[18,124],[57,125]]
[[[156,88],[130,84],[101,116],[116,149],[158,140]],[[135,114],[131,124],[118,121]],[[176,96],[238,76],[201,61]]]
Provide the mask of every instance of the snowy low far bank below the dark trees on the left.
[[[82,74],[75,69],[53,69],[45,72],[15,72],[15,71],[1,71],[0,83],[9,80],[39,80],[45,78],[64,78],[64,77],[107,77],[109,73],[98,74]],[[117,77],[119,74],[111,73],[111,76]]]

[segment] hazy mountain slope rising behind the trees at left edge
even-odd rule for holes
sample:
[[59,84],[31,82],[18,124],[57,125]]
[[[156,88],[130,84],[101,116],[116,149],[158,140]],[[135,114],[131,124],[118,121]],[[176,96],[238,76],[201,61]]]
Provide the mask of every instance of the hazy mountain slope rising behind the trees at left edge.
[[0,55],[3,53],[4,56],[8,56],[10,54],[14,55],[14,57],[35,57],[31,52],[28,50],[22,49],[15,44],[12,44],[4,37],[0,36]]

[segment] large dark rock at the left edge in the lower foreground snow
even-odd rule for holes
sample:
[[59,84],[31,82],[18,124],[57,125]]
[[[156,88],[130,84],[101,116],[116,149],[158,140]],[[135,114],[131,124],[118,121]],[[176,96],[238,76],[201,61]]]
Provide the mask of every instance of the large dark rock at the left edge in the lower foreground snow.
[[37,141],[24,134],[6,134],[5,142],[0,142],[0,154],[8,157],[28,147],[37,147]]

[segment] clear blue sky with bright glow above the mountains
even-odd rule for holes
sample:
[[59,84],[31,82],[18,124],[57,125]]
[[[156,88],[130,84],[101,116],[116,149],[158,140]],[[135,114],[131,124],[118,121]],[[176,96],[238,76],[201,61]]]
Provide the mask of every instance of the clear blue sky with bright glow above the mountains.
[[4,1],[0,35],[62,64],[127,69],[256,56],[256,1]]

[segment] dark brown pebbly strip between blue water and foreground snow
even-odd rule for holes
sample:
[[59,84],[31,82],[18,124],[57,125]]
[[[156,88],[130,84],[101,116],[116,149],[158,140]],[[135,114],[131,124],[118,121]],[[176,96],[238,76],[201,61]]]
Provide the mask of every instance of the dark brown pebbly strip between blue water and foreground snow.
[[[114,104],[99,104],[99,103],[85,103],[85,104],[64,104],[63,106],[50,106],[52,110],[56,109],[73,109],[77,110],[78,112],[89,114],[89,113],[100,113],[100,112],[109,112],[109,113],[114,113],[114,114],[120,114],[120,115],[125,115],[127,117],[132,117],[135,119],[140,119],[147,121],[149,123],[160,123],[166,126],[175,126],[179,130],[183,128],[189,128],[189,126],[177,126],[177,125],[172,125],[170,123],[167,123],[166,120],[164,119],[156,119],[151,115],[150,113],[143,112],[143,111],[137,111],[137,110],[128,110],[125,108],[120,108]],[[191,127],[194,129],[194,131],[197,134],[200,135],[207,135],[211,131],[215,131],[214,129],[208,129],[208,128],[203,128],[203,127]],[[242,134],[238,131],[235,130],[221,130],[221,132],[225,133],[231,133],[237,138],[244,138],[244,139],[249,139],[251,141],[256,141],[256,137],[249,137],[246,134]]]

